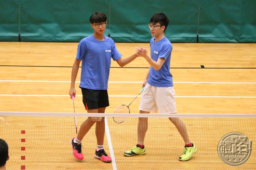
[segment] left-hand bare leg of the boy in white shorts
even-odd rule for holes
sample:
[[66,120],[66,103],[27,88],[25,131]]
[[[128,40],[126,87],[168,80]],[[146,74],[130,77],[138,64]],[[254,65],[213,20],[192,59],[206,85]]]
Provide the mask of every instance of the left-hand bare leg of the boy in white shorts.
[[[149,113],[140,110],[140,113]],[[146,132],[148,130],[148,118],[147,117],[139,117],[139,123],[138,123],[138,144],[143,145],[144,144],[144,138],[146,135]]]

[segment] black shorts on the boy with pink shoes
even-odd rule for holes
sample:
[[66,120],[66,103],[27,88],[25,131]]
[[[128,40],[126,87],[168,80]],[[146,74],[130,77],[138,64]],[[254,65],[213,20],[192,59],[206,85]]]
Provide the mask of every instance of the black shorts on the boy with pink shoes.
[[81,89],[83,94],[83,103],[86,110],[109,106],[107,90]]

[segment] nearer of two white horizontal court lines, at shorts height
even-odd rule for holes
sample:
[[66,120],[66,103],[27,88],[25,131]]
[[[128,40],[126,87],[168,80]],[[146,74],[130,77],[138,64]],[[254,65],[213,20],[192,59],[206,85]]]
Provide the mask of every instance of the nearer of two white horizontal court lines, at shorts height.
[[[69,95],[44,94],[0,94],[0,96],[69,97]],[[81,97],[82,95],[76,95]],[[136,95],[108,95],[108,97],[136,97]],[[141,96],[138,96],[141,97]],[[183,98],[256,98],[256,96],[175,96]]]

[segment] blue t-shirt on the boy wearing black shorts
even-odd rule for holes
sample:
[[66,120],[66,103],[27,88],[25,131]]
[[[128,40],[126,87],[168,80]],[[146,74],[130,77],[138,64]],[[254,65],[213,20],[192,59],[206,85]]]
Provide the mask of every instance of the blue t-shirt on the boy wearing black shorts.
[[108,89],[111,58],[116,61],[122,55],[117,51],[115,42],[104,37],[104,41],[98,41],[90,35],[78,44],[76,59],[82,60],[80,88]]

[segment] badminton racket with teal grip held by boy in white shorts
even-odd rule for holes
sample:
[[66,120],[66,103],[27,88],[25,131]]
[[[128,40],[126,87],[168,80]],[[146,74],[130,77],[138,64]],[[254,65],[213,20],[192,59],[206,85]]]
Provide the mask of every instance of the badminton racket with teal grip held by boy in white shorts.
[[[144,87],[140,90],[139,94],[132,100],[132,102],[140,95],[141,92],[143,92]],[[114,113],[130,113],[130,108],[129,106],[132,104],[132,102],[127,106],[127,105],[120,105],[116,108]],[[116,123],[123,123],[126,121],[128,117],[113,117],[113,120]]]

